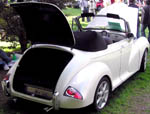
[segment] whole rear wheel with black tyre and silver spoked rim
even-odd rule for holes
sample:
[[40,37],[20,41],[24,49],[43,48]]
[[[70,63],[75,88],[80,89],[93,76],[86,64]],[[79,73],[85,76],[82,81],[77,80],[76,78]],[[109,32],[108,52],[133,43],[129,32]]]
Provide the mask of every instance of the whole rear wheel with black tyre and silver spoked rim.
[[107,104],[108,98],[110,94],[110,82],[108,78],[104,77],[99,82],[94,98],[94,108],[97,111],[100,111]]

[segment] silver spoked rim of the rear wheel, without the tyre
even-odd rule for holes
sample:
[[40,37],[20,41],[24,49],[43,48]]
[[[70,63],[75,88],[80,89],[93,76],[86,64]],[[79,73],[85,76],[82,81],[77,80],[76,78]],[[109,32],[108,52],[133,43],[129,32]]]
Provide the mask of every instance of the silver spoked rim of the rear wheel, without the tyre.
[[107,81],[103,81],[97,90],[97,97],[96,97],[96,105],[98,109],[102,109],[108,100],[109,96],[109,84]]

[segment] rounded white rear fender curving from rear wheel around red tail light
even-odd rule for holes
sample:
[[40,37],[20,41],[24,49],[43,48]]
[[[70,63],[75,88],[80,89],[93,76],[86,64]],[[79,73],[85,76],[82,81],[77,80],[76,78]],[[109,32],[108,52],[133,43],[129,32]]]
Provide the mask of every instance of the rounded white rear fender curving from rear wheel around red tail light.
[[[103,67],[102,67],[103,66]],[[105,67],[104,67],[105,66]],[[99,69],[95,69],[95,67],[99,67]],[[103,70],[101,72],[100,70]],[[93,102],[94,93],[96,89],[96,85],[98,84],[99,80],[102,78],[101,76],[109,74],[108,73],[108,67],[104,65],[103,63],[92,63],[91,65],[88,65],[86,68],[82,69],[78,74],[76,74],[72,80],[66,85],[66,88],[68,86],[78,88],[78,91],[83,96],[82,101],[78,101],[78,104],[72,104],[69,105],[72,100],[69,100],[67,97],[65,98],[63,95],[61,96],[61,99],[68,99],[67,103],[61,103],[60,106],[64,108],[77,108],[79,106],[87,106],[87,104],[91,104]],[[91,78],[92,77],[92,78]],[[62,80],[64,81],[64,80]],[[95,83],[93,83],[95,82]],[[60,89],[60,88],[59,88]],[[57,88],[56,88],[57,90]],[[64,91],[62,91],[64,92]],[[69,107],[68,107],[69,106]]]

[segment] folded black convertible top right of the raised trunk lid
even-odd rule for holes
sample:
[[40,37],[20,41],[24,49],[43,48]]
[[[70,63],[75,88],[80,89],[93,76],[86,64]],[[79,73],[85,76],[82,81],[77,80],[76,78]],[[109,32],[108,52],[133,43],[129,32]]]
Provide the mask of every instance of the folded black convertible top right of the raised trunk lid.
[[107,48],[107,43],[102,36],[95,31],[74,32],[76,45],[74,48],[84,51],[101,51]]

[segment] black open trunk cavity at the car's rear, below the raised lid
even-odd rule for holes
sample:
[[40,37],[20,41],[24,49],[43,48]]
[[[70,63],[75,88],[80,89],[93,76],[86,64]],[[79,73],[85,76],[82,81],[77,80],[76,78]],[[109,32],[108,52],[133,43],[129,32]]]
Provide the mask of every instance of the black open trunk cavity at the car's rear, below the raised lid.
[[58,49],[30,49],[16,70],[13,80],[14,90],[51,99],[62,71],[72,57],[71,53]]

